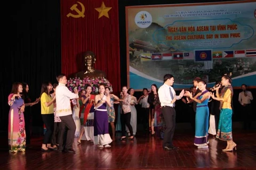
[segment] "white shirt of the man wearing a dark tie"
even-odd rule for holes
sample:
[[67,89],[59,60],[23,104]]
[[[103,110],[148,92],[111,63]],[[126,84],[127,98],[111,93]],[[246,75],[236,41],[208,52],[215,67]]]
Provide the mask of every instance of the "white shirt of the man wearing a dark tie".
[[[163,84],[159,89],[158,89],[158,96],[159,100],[161,103],[161,106],[170,106],[174,107],[173,104],[171,104],[171,101],[173,100],[171,98],[170,94],[170,87],[167,84]],[[173,97],[177,100],[181,99],[179,96],[176,95],[176,92],[174,91],[173,87],[171,87]]]

